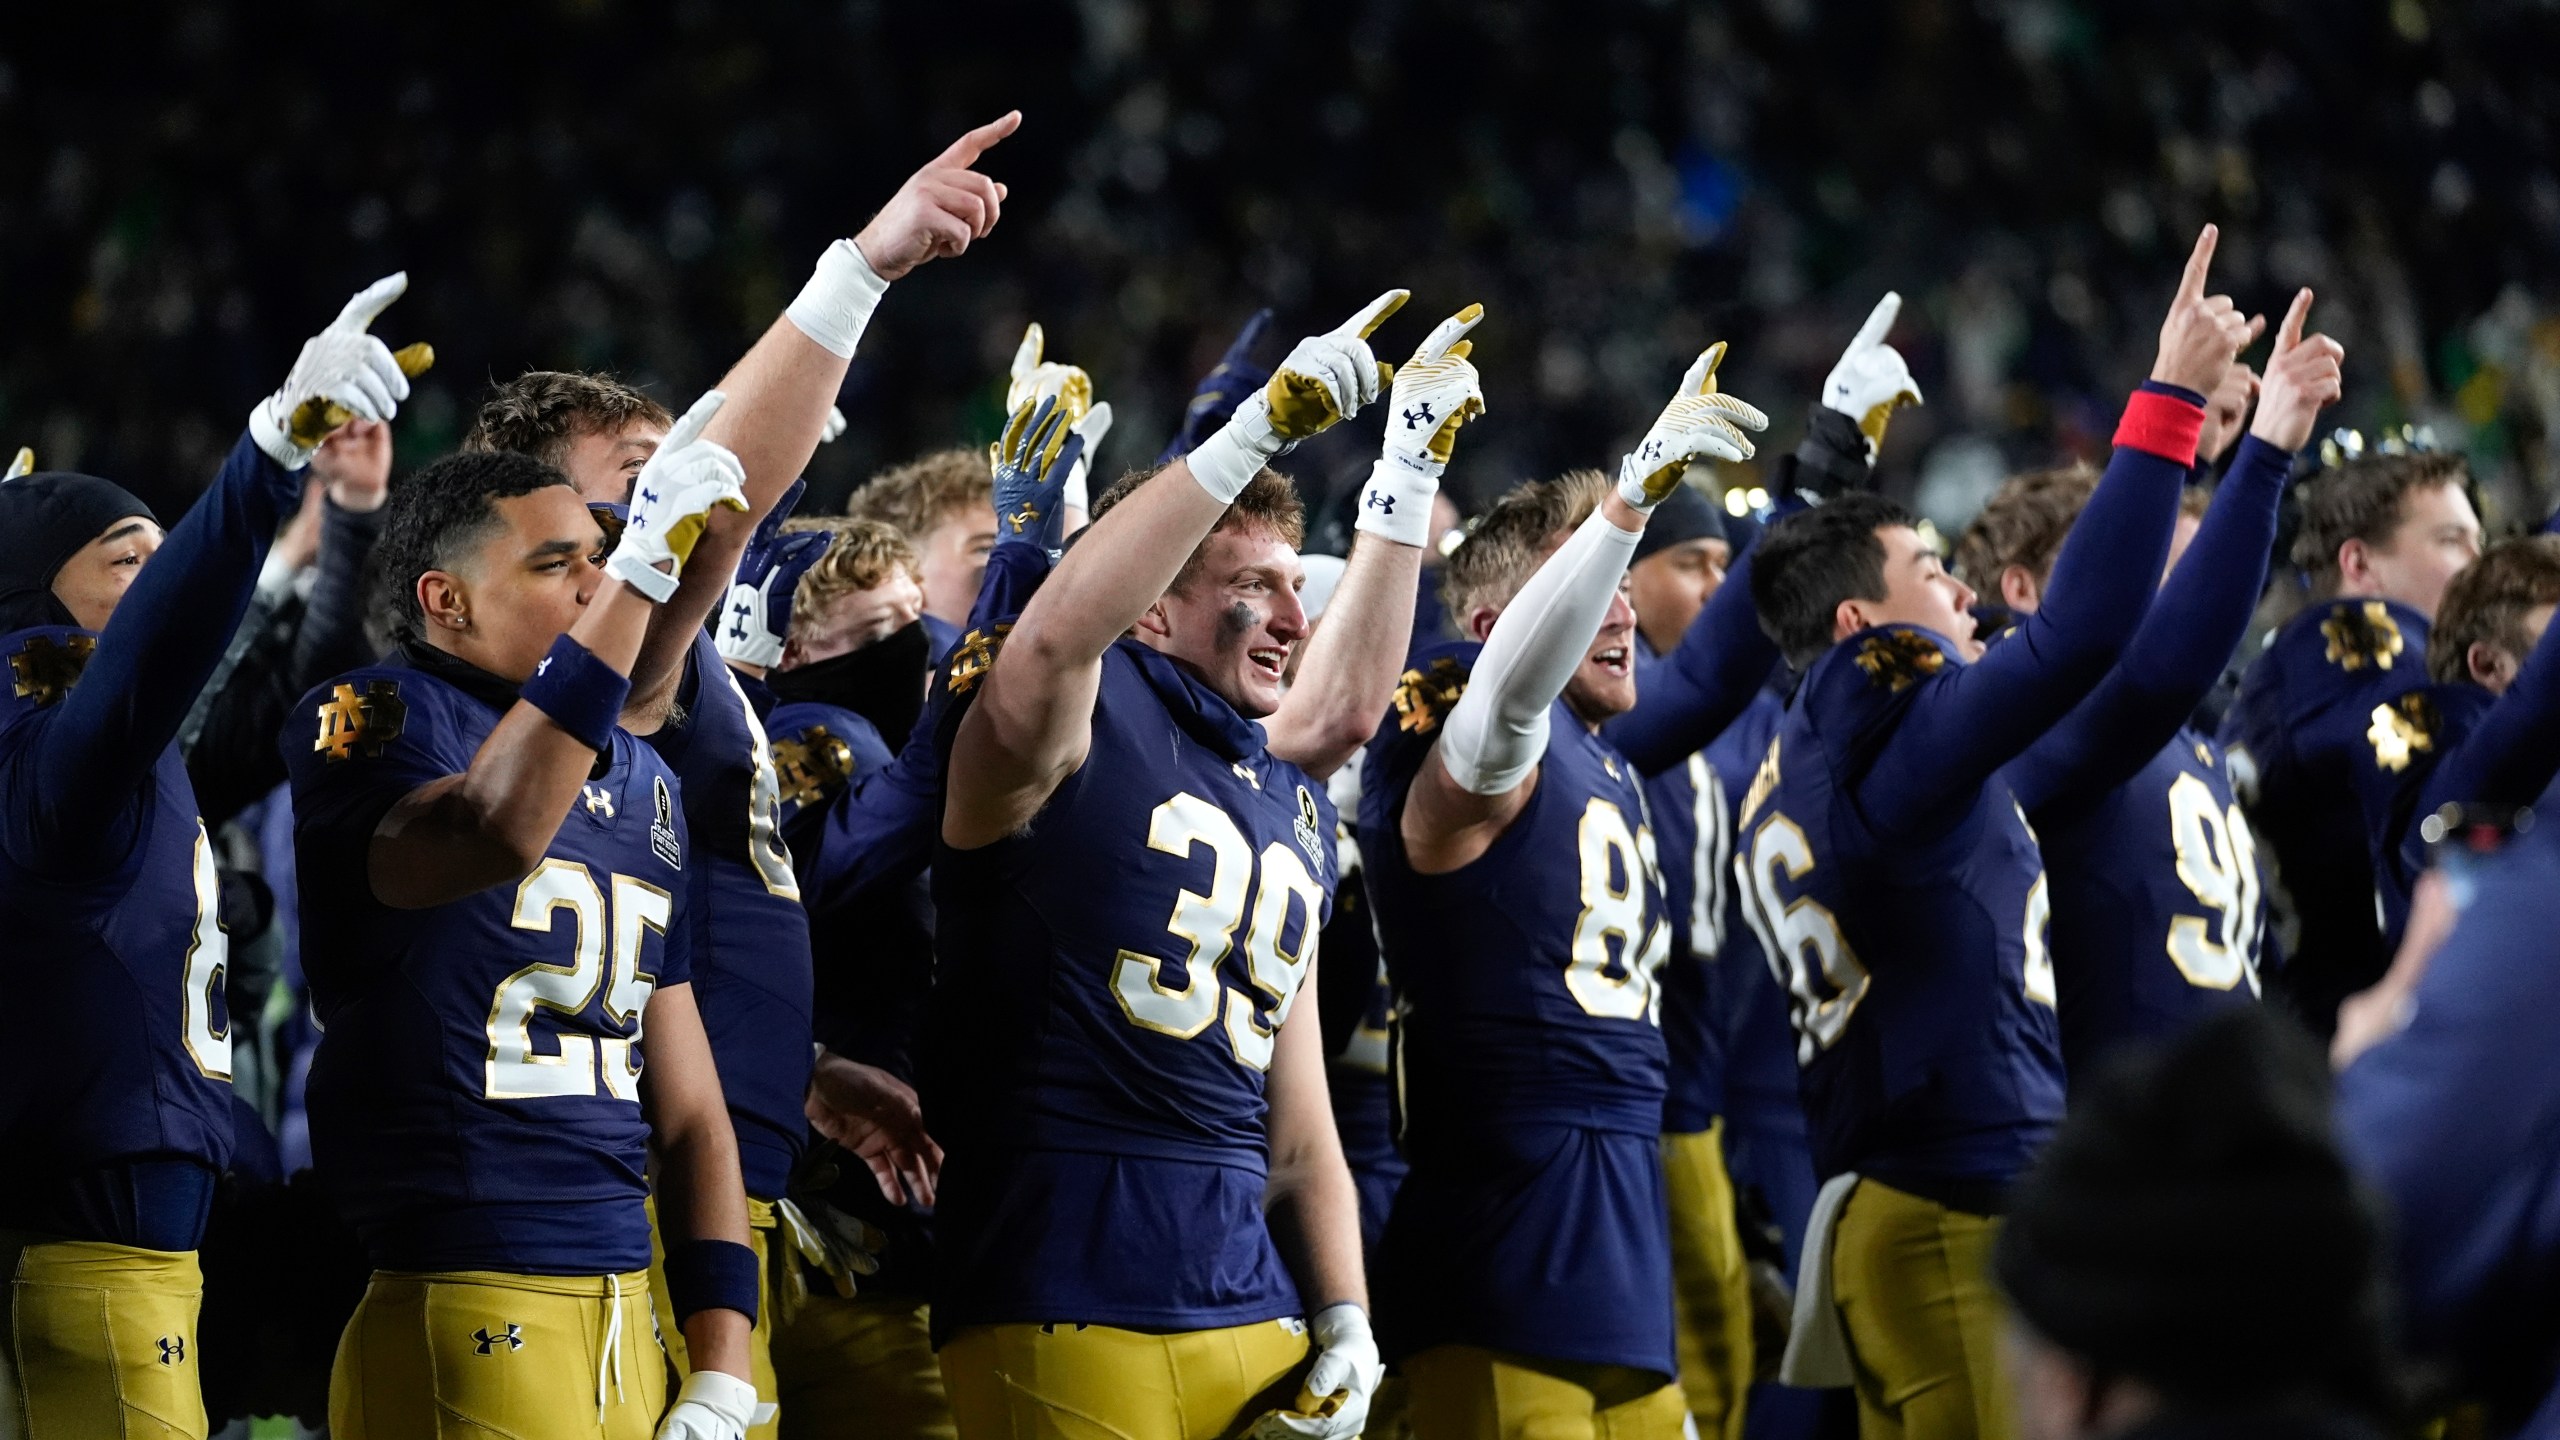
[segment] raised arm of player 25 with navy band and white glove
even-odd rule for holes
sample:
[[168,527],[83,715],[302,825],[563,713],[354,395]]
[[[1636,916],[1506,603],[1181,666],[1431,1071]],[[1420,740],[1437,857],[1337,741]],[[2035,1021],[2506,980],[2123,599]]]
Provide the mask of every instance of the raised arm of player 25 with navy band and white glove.
[[[374,825],[366,874],[379,902],[425,910],[543,863],[596,756],[612,746],[653,597],[678,584],[701,518],[714,505],[745,505],[737,461],[701,441],[719,402],[717,389],[704,395],[643,466],[630,525],[594,597],[553,641],[471,766],[412,789]],[[643,569],[655,579],[640,577]]]

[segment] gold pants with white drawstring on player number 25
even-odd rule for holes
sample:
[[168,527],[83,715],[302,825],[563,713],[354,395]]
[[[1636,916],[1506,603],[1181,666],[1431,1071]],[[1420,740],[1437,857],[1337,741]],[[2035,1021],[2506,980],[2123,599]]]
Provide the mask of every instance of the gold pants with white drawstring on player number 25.
[[374,1271],[338,1340],[330,1440],[650,1440],[666,1350],[648,1271]]

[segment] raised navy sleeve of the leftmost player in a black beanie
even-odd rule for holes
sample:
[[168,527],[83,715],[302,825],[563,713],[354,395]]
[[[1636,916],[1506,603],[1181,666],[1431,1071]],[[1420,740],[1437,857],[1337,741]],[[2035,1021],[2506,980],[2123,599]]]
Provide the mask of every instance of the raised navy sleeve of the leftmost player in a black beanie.
[[18,756],[36,766],[36,805],[8,820],[15,853],[123,848],[131,797],[223,664],[276,525],[300,500],[302,479],[266,459],[256,441],[243,433],[230,446],[212,489],[115,605],[97,656],[44,740]]

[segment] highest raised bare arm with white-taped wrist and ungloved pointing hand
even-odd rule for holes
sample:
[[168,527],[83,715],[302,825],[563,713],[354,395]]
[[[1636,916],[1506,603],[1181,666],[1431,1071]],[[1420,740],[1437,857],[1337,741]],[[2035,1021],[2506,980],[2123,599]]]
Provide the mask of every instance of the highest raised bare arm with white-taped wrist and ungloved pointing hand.
[[[1006,187],[970,169],[1011,136],[1021,113],[960,136],[850,241],[817,261],[817,274],[760,341],[722,377],[730,397],[707,438],[727,446],[748,471],[748,512],[712,515],[686,564],[684,587],[660,605],[632,669],[632,712],[655,723],[684,679],[694,630],[730,594],[730,571],[755,523],[801,477],[817,454],[845,369],[888,284],[937,256],[955,256],[986,238],[1004,210]],[[635,495],[637,500],[637,495]]]

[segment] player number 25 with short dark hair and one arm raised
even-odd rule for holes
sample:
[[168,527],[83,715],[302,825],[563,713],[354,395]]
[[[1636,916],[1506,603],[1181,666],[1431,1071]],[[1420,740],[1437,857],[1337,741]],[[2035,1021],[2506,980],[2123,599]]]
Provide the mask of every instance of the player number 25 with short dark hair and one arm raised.
[[[691,986],[699,856],[673,771],[620,728],[707,512],[745,507],[737,456],[701,438],[722,400],[640,469],[602,566],[538,459],[410,477],[381,546],[402,648],[284,735],[325,1027],[312,1161],[374,1263],[330,1435],[735,1440],[755,1409],[758,1263]],[[653,1189],[694,1363],[663,1427]]]

